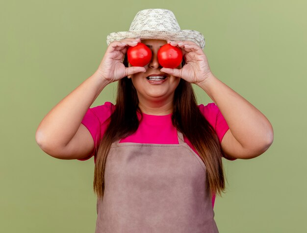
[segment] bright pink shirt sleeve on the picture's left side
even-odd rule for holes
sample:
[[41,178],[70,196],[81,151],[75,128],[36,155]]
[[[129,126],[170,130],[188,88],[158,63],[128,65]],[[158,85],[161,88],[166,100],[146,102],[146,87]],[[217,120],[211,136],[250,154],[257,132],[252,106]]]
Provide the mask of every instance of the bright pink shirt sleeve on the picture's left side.
[[85,161],[90,159],[92,156],[96,159],[97,147],[99,146],[100,140],[107,128],[107,119],[114,112],[115,106],[111,102],[105,102],[103,105],[99,105],[93,108],[89,108],[81,124],[83,124],[88,131],[91,133],[94,140],[94,148],[85,159],[77,159],[80,161]]

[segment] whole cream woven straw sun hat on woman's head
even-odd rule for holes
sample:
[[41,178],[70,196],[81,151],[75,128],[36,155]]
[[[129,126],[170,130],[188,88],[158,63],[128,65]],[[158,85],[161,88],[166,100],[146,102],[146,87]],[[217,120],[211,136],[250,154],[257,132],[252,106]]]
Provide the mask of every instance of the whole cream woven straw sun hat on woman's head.
[[113,41],[127,38],[193,41],[204,49],[205,38],[195,30],[181,30],[172,11],[167,9],[145,9],[139,11],[129,31],[112,32],[106,37],[109,45]]

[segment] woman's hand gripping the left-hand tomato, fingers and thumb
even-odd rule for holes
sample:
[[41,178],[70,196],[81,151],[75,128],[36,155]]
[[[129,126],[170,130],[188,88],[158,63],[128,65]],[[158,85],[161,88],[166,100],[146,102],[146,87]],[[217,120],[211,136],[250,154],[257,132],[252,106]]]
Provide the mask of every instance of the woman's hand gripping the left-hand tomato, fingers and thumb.
[[96,72],[111,83],[128,75],[146,71],[144,67],[125,67],[123,64],[128,46],[136,46],[139,42],[141,42],[140,39],[123,39],[111,42]]

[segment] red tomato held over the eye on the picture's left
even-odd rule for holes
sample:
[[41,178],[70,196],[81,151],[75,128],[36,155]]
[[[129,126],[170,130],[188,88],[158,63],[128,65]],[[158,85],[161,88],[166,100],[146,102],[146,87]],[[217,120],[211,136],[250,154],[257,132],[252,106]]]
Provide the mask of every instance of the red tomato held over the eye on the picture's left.
[[152,60],[152,50],[143,43],[128,47],[128,62],[134,67],[144,67]]

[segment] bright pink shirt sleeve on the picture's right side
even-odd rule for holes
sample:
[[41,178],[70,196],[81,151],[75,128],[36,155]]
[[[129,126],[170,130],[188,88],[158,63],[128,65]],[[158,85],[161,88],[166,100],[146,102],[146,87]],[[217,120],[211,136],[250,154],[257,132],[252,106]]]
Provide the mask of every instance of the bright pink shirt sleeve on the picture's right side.
[[[199,109],[203,113],[207,121],[215,129],[216,135],[221,144],[224,135],[229,130],[229,126],[224,116],[222,115],[221,111],[219,110],[219,108],[217,107],[215,103],[208,103],[206,106],[204,106],[203,104],[200,104]],[[231,160],[231,161],[236,160],[236,159],[230,159],[230,158],[226,158],[226,159]]]

